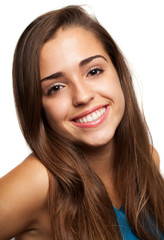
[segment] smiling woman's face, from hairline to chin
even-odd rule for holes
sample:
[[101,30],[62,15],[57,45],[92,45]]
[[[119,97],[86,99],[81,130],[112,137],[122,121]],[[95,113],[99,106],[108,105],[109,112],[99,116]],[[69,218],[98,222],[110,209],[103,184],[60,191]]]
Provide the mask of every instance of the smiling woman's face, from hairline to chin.
[[80,145],[110,143],[123,117],[119,78],[101,42],[80,27],[59,29],[40,54],[43,108],[51,128]]

